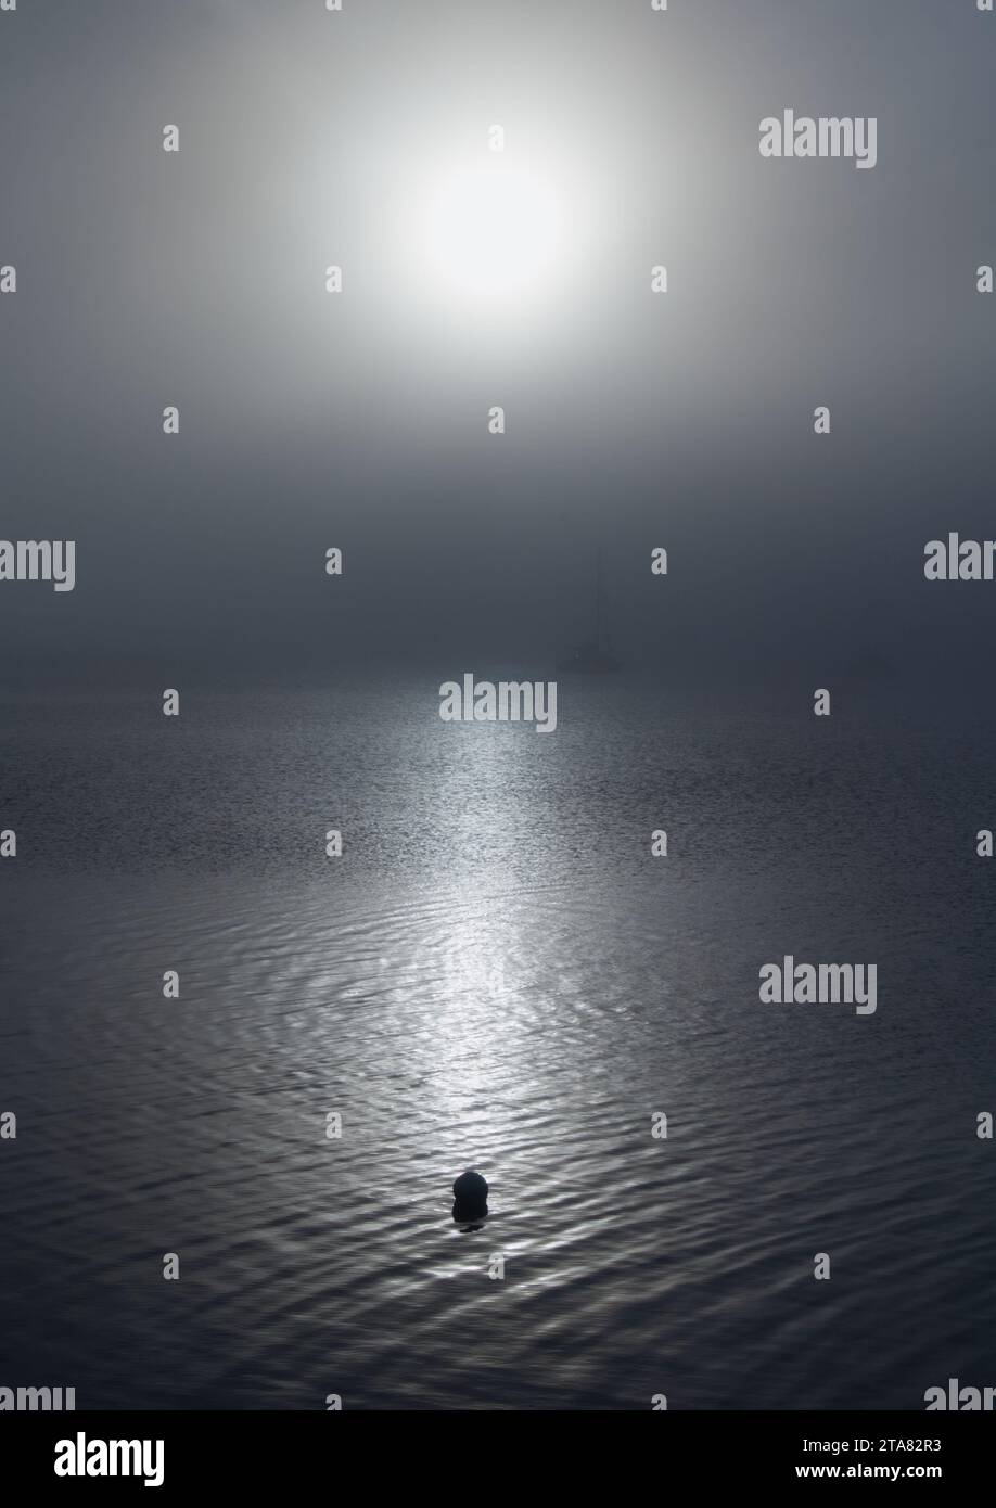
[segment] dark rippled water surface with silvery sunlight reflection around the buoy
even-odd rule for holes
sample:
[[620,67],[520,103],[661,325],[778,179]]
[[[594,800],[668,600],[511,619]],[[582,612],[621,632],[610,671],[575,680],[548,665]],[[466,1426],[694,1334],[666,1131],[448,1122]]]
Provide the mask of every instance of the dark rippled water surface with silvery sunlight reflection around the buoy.
[[[80,1408],[991,1378],[987,715],[622,676],[543,739],[436,692],[5,704],[5,1374]],[[875,962],[875,1015],[762,1006],[783,953]]]

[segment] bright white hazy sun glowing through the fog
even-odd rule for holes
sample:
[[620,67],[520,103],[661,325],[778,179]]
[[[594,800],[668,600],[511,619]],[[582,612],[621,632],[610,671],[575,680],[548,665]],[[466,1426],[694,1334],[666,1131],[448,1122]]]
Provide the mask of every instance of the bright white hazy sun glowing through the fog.
[[557,267],[557,195],[493,154],[429,187],[421,240],[441,291],[486,305],[522,303],[543,291]]

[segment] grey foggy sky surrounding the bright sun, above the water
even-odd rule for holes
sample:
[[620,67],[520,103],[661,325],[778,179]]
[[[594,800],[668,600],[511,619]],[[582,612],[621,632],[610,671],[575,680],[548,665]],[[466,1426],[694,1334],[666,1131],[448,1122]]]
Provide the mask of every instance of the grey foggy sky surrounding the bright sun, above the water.
[[[0,537],[75,538],[77,587],[0,584],[0,691],[539,673],[596,544],[628,664],[682,682],[984,670],[996,582],[922,550],[996,534],[994,66],[973,0],[21,0]],[[877,116],[875,169],[762,160],[786,107]],[[576,208],[503,321],[409,241],[492,122]]]

